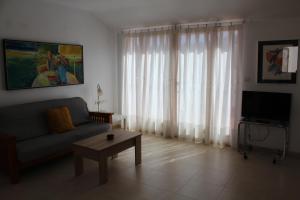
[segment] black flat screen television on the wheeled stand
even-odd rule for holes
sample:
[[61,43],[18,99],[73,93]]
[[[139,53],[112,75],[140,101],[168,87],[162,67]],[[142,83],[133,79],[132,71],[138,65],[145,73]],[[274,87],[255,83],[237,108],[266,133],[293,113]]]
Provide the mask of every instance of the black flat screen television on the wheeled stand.
[[254,121],[288,122],[291,97],[290,93],[243,91],[242,117]]

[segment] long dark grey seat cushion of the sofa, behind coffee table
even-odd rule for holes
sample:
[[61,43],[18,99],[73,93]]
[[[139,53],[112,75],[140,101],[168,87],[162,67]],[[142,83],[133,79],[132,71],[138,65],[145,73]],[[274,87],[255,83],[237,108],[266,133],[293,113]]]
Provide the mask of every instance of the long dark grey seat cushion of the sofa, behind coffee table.
[[82,124],[64,134],[47,134],[17,143],[18,159],[26,162],[70,148],[72,143],[111,129],[110,124]]

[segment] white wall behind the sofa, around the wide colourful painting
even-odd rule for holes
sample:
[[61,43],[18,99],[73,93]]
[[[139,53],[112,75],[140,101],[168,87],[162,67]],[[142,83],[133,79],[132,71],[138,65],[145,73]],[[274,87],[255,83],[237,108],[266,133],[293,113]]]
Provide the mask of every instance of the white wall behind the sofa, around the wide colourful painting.
[[0,40],[77,43],[84,47],[84,85],[6,91],[0,54],[0,106],[36,100],[83,97],[96,109],[96,85],[104,91],[103,109],[114,110],[115,35],[94,16],[37,0],[0,0]]

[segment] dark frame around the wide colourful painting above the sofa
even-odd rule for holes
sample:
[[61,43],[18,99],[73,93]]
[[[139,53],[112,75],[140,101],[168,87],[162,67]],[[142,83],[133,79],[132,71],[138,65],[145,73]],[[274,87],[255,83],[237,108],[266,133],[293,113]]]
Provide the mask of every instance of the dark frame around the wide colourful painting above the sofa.
[[[36,45],[53,45],[53,46],[70,46],[77,47],[80,49],[78,54],[80,57],[80,80],[78,82],[57,84],[57,85],[47,85],[47,86],[36,86],[36,87],[11,87],[9,84],[11,74],[9,74],[9,64],[8,64],[8,53],[7,53],[7,43],[9,42],[19,42],[19,43],[33,43]],[[18,39],[2,39],[2,48],[3,48],[3,64],[4,64],[4,76],[5,76],[5,89],[6,90],[23,90],[23,89],[36,89],[36,88],[48,88],[48,87],[60,87],[60,86],[70,86],[70,85],[82,85],[84,84],[84,54],[83,54],[83,45],[74,44],[74,43],[60,43],[60,42],[42,42],[42,41],[30,41],[30,40],[18,40]],[[75,56],[74,56],[75,57]],[[74,66],[75,71],[75,66]],[[67,71],[68,73],[68,71]],[[75,73],[76,74],[76,73]],[[76,77],[76,75],[75,75]]]

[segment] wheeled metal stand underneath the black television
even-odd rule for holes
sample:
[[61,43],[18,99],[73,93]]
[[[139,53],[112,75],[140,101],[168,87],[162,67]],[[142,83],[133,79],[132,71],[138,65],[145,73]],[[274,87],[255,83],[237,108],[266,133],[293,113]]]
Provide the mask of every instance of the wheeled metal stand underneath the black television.
[[[241,126],[244,125],[244,131],[243,131],[243,144],[241,144]],[[253,119],[242,119],[240,120],[238,124],[238,151],[242,152],[244,155],[244,159],[248,159],[248,151],[247,148],[249,146],[248,144],[248,138],[251,136],[251,130],[250,126],[263,126],[266,128],[269,127],[275,127],[283,129],[283,141],[282,141],[282,151],[279,155],[280,160],[284,160],[286,157],[286,152],[288,149],[288,143],[289,143],[289,126],[288,122],[280,122],[280,121],[269,121],[269,120],[253,120]],[[267,135],[268,137],[269,135]],[[267,139],[264,138],[264,139]],[[243,146],[243,149],[241,150],[241,146]],[[277,158],[274,157],[273,163],[276,164]]]

